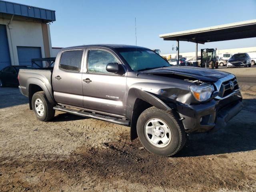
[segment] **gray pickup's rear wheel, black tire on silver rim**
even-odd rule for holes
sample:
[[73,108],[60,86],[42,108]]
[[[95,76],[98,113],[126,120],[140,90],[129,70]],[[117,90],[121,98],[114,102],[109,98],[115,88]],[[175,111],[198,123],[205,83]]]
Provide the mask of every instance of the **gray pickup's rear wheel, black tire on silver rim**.
[[36,92],[32,96],[32,109],[36,118],[40,121],[49,121],[54,117],[55,110],[52,104],[46,98],[43,91]]

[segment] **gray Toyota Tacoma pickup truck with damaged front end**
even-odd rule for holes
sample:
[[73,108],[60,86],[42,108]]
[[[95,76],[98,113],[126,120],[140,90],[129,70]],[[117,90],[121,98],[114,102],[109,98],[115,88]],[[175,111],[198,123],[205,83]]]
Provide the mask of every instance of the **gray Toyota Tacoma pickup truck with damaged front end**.
[[18,80],[38,120],[59,110],[130,126],[132,140],[162,156],[181,150],[190,132],[224,127],[243,107],[233,74],[170,66],[138,46],[64,48],[54,68],[21,69]]

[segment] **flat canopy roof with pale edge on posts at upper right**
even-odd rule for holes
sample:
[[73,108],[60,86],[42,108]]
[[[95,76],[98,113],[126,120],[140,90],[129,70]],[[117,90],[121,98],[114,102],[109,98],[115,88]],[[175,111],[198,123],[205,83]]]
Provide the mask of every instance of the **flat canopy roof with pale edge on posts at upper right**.
[[180,40],[204,44],[206,42],[225,41],[256,37],[256,19],[217,25],[212,27],[160,34],[164,40]]

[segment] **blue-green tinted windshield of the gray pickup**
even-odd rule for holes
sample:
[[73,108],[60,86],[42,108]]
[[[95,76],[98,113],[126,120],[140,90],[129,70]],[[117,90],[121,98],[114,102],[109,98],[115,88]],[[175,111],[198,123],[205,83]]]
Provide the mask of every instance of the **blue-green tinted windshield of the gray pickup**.
[[143,71],[171,66],[160,55],[146,48],[118,48],[116,50],[122,55],[133,71],[136,71],[137,67],[138,71]]

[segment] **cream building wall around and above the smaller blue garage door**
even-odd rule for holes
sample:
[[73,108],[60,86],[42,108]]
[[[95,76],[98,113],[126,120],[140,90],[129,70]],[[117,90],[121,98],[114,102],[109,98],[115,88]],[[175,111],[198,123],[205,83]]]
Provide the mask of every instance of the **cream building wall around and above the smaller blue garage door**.
[[19,64],[17,46],[40,47],[42,57],[45,57],[41,23],[13,20],[8,26],[9,22],[10,20],[0,18],[0,24],[7,28],[12,65]]

